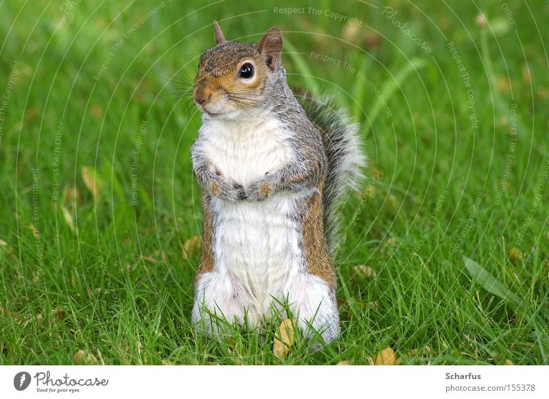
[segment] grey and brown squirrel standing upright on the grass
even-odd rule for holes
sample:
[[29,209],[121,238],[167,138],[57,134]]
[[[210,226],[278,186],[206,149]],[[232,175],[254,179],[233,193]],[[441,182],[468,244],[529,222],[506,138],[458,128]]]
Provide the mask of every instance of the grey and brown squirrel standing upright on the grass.
[[205,194],[191,320],[196,332],[226,334],[289,310],[309,341],[329,343],[340,332],[338,200],[366,166],[358,125],[329,98],[296,100],[279,28],[259,44],[213,28],[193,91],[202,124],[191,160]]

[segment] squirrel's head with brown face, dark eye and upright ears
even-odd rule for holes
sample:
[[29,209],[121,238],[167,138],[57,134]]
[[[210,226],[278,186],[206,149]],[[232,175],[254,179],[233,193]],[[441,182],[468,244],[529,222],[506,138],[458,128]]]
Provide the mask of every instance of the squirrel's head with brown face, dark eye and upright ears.
[[226,41],[213,21],[215,46],[200,56],[193,97],[206,118],[234,119],[270,104],[270,91],[285,80],[282,34],[271,27],[259,43]]

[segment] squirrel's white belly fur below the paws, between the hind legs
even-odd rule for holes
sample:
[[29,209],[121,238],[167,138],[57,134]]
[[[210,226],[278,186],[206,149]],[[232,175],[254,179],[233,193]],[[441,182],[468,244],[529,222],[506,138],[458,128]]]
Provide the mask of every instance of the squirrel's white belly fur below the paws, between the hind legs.
[[213,198],[215,271],[234,282],[249,312],[266,314],[272,296],[283,299],[285,287],[305,270],[299,248],[300,226],[292,218],[305,193],[283,193],[266,201],[231,204]]

